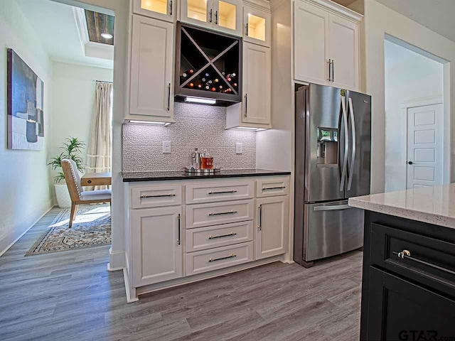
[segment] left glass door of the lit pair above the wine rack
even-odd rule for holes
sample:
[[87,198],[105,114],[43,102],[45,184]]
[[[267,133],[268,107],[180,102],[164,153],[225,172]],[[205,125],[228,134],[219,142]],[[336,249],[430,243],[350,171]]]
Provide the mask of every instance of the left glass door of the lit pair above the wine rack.
[[213,27],[213,0],[182,0],[181,21],[207,28]]

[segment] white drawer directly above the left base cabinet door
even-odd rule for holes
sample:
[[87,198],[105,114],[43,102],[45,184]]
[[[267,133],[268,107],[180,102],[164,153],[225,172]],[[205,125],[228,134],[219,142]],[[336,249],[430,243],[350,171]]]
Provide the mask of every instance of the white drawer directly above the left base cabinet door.
[[182,186],[145,186],[132,188],[132,207],[163,207],[181,205]]

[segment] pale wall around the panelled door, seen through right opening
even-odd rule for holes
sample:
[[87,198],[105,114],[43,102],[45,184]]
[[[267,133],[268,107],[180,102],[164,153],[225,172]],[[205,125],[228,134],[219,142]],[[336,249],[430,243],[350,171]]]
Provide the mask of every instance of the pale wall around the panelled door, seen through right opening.
[[401,104],[442,96],[443,66],[385,40],[385,191],[406,189],[406,117]]

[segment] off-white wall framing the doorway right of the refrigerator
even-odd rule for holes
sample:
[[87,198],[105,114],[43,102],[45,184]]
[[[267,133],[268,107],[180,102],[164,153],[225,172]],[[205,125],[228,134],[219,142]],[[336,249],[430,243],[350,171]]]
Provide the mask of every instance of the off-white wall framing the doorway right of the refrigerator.
[[[444,65],[444,134],[451,131],[450,113],[455,113],[455,42],[440,36],[428,28],[402,16],[400,13],[379,4],[375,0],[365,0],[365,90],[372,95],[372,193],[385,189],[385,75],[384,38],[388,34],[417,46],[448,63]],[[455,120],[454,120],[455,121]],[[452,122],[453,123],[453,122]],[[452,141],[454,136],[452,136]],[[453,142],[452,142],[453,145]],[[451,167],[451,146],[444,146],[445,169]],[[453,159],[453,158],[452,158]],[[455,167],[451,167],[454,180]],[[447,180],[447,179],[446,179]]]

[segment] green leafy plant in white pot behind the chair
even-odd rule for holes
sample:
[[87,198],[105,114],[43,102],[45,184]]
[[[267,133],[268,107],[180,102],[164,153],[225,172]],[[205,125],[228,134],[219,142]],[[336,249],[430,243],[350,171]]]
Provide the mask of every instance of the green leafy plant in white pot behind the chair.
[[50,166],[53,171],[58,172],[54,176],[55,196],[57,197],[58,207],[71,207],[70,193],[68,192],[68,187],[65,183],[65,175],[63,175],[61,162],[65,158],[70,158],[76,163],[78,171],[84,171],[82,157],[80,156],[80,153],[84,148],[85,143],[83,141],[79,141],[76,137],[68,137],[65,142],[63,142],[62,146],[60,146],[60,149],[63,149],[63,152],[60,153],[59,156],[50,158],[48,166]]

